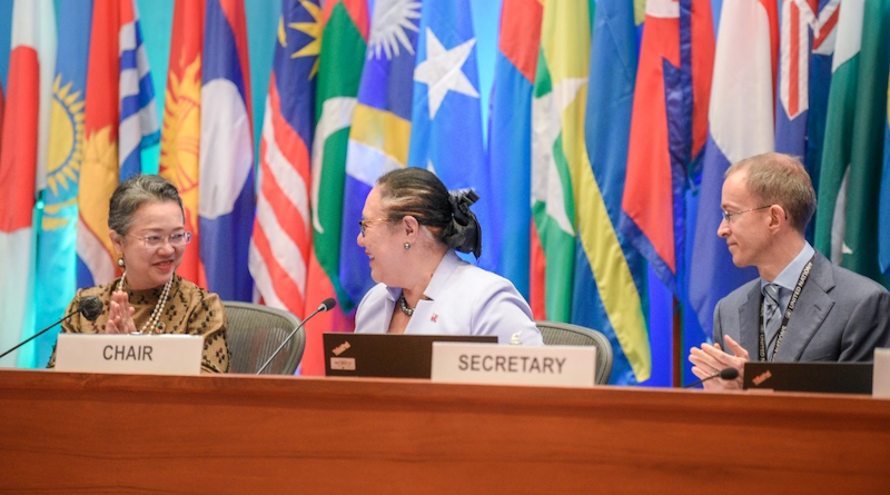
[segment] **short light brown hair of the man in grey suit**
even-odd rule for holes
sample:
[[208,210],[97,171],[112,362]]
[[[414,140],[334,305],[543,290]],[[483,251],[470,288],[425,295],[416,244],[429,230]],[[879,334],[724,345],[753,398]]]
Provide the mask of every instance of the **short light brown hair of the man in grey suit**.
[[[795,157],[769,152],[733,164],[723,177],[748,171],[748,189],[761,205],[779,205],[799,232],[815,212],[815,190],[803,164]],[[761,206],[758,205],[758,206]]]

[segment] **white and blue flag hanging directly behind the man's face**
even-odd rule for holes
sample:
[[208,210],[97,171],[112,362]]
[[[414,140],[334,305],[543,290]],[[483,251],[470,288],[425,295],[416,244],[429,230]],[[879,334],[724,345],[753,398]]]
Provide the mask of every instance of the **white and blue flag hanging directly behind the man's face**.
[[729,166],[773,150],[777,16],[775,3],[768,0],[725,0],[721,12],[692,248],[695,263],[689,277],[689,299],[708,336],[713,335],[718,300],[758,275],[753,267],[732,264],[716,229],[723,218],[721,194]]

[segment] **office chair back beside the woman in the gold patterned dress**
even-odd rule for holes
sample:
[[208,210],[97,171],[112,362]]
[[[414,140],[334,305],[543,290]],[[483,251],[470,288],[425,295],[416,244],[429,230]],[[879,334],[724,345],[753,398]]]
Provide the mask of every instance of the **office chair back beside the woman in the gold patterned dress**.
[[[257,373],[299,325],[299,318],[293,314],[268,306],[233,300],[222,301],[222,306],[226,308],[231,353],[229,373]],[[300,328],[263,374],[293,375],[305,346],[306,333]]]

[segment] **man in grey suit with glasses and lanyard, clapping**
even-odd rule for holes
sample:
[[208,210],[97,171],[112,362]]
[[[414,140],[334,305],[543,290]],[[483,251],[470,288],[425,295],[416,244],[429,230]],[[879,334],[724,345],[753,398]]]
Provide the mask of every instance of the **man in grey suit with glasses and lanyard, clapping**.
[[699,378],[739,370],[739,378],[711,379],[705,388],[741,388],[750,359],[869,362],[876,347],[890,347],[890,293],[833,265],[804,238],[815,191],[800,161],[765,154],[734,164],[721,206],[718,235],[732,263],[756,267],[760,278],[718,303],[714,345],[690,350]]

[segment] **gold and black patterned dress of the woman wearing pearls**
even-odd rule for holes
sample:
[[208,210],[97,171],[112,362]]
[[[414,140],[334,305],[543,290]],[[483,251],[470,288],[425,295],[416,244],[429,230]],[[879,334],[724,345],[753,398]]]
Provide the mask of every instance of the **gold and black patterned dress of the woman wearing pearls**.
[[[69,334],[103,334],[108,323],[108,310],[111,293],[118,287],[118,280],[110,284],[80,289],[68,305],[66,315],[75,311],[80,305],[80,299],[87,296],[97,296],[105,306],[102,314],[90,321],[81,314],[77,314],[62,323],[62,331]],[[132,315],[136,328],[141,328],[155,310],[164,286],[148,290],[132,290],[125,287],[129,295],[130,306],[136,309]],[[156,334],[190,334],[204,336],[204,358],[201,359],[202,373],[227,373],[229,370],[229,344],[226,336],[226,311],[219,296],[174,275],[170,294],[164,306],[160,321],[151,333]],[[148,330],[146,330],[148,333]],[[56,366],[56,350],[49,359],[48,368]]]

